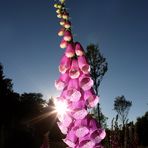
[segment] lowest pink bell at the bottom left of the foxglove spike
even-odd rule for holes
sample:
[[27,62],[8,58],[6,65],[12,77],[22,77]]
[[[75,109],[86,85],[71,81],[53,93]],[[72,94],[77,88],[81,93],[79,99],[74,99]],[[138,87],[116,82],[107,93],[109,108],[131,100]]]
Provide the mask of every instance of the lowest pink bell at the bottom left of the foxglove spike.
[[66,138],[63,140],[70,148],[75,148],[78,138],[76,137],[73,129],[70,130],[66,136]]

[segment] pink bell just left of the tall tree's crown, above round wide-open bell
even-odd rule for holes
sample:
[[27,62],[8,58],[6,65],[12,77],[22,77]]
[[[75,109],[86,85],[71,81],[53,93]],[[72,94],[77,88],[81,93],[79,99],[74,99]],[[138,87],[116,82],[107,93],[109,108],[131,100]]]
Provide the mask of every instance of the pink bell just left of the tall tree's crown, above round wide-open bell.
[[90,72],[90,65],[86,61],[85,56],[79,56],[78,57],[78,64],[79,68],[84,74],[88,74]]

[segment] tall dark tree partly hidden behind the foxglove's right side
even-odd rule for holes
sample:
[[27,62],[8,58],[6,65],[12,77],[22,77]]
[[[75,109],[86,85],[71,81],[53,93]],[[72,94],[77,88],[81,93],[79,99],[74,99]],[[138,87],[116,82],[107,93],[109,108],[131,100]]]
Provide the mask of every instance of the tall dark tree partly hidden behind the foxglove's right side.
[[[99,94],[99,86],[102,81],[103,76],[107,72],[108,64],[106,62],[106,59],[103,57],[103,55],[100,53],[100,49],[98,45],[90,44],[87,46],[86,56],[88,59],[88,62],[90,64],[90,74],[94,81],[94,91],[96,95]],[[95,110],[95,109],[94,109]],[[94,111],[95,112],[95,111]],[[102,114],[100,104],[97,105],[97,112],[98,112],[98,121],[101,123],[102,120],[106,117]]]

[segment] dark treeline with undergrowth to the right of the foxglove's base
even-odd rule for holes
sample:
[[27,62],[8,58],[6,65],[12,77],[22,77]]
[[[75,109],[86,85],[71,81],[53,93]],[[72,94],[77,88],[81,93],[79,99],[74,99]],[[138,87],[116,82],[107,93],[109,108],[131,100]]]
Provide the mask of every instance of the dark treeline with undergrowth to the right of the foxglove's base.
[[113,118],[111,129],[106,129],[105,148],[147,148],[148,112],[137,118],[136,123],[119,124],[118,115]]

